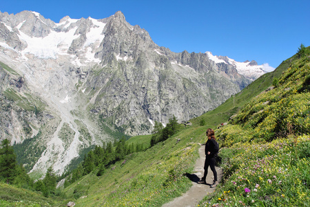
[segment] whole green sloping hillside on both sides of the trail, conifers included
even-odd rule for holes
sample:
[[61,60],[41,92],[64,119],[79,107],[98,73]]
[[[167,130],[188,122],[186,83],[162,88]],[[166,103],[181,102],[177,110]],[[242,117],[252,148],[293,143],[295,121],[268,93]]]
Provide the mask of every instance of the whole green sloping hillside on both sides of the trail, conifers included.
[[[75,171],[63,175],[62,197],[56,197],[54,188],[48,196],[57,198],[57,204],[70,200],[76,206],[161,206],[189,189],[185,174],[192,173],[205,130],[219,127],[224,179],[200,206],[309,206],[308,50],[300,46],[275,71],[190,120],[192,126],[174,124],[172,118],[165,128],[156,123],[153,135],[96,146]],[[54,186],[54,179],[49,180]],[[43,204],[41,192],[36,201],[25,200]],[[12,203],[17,197],[1,199]]]

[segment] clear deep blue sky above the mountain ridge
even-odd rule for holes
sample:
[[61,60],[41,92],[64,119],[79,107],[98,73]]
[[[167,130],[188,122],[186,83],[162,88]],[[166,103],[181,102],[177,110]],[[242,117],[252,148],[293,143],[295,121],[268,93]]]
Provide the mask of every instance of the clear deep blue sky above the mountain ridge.
[[149,32],[158,46],[173,52],[206,52],[236,61],[256,60],[276,68],[300,43],[310,46],[309,0],[247,1],[2,1],[1,12],[39,12],[58,23],[103,19],[121,10],[126,21]]

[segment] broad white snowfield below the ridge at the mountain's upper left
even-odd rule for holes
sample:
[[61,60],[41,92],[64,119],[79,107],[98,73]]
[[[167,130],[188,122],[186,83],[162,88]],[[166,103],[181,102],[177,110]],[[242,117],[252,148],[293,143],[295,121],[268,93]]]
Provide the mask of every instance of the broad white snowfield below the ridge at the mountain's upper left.
[[[33,13],[39,19],[39,13]],[[22,51],[14,50],[14,48],[8,46],[5,42],[0,42],[0,46],[19,52],[19,55],[23,60],[28,60],[27,54],[32,54],[39,59],[58,59],[60,56],[65,55],[71,57],[70,61],[76,66],[83,66],[86,63],[91,62],[99,63],[100,60],[96,59],[94,54],[105,37],[103,29],[105,28],[106,23],[97,19],[87,19],[92,21],[93,25],[85,34],[85,43],[79,48],[79,55],[71,56],[68,54],[72,42],[81,36],[81,34],[76,34],[76,30],[79,29],[77,22],[80,20],[81,19],[64,17],[59,23],[54,24],[54,28],[52,28],[46,37],[30,37],[28,34],[22,32],[20,29],[23,27],[25,21],[22,21],[14,28],[4,23],[10,32],[18,30],[17,36],[21,41],[27,43],[28,46]],[[78,57],[78,59],[76,59],[76,57]]]

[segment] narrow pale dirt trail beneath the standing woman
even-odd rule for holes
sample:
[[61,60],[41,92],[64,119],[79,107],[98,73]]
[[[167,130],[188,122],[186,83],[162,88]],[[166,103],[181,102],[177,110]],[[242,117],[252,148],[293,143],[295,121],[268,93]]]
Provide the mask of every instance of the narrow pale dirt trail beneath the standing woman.
[[[163,207],[192,207],[197,206],[199,201],[202,200],[207,193],[211,193],[215,188],[210,188],[210,185],[213,184],[213,173],[211,169],[208,170],[207,175],[207,185],[197,184],[200,177],[203,177],[203,166],[205,164],[205,146],[199,148],[199,158],[196,161],[194,174],[189,174],[187,177],[192,180],[193,186],[182,196],[175,198],[167,204],[164,204]],[[222,169],[216,167],[216,172],[218,172],[218,181],[222,179],[223,173]]]

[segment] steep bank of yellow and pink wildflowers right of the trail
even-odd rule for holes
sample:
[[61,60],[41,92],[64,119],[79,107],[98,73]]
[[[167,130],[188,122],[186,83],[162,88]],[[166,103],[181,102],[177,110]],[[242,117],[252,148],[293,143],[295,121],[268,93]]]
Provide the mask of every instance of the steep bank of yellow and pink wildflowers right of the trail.
[[217,130],[225,179],[201,206],[310,206],[310,59]]

